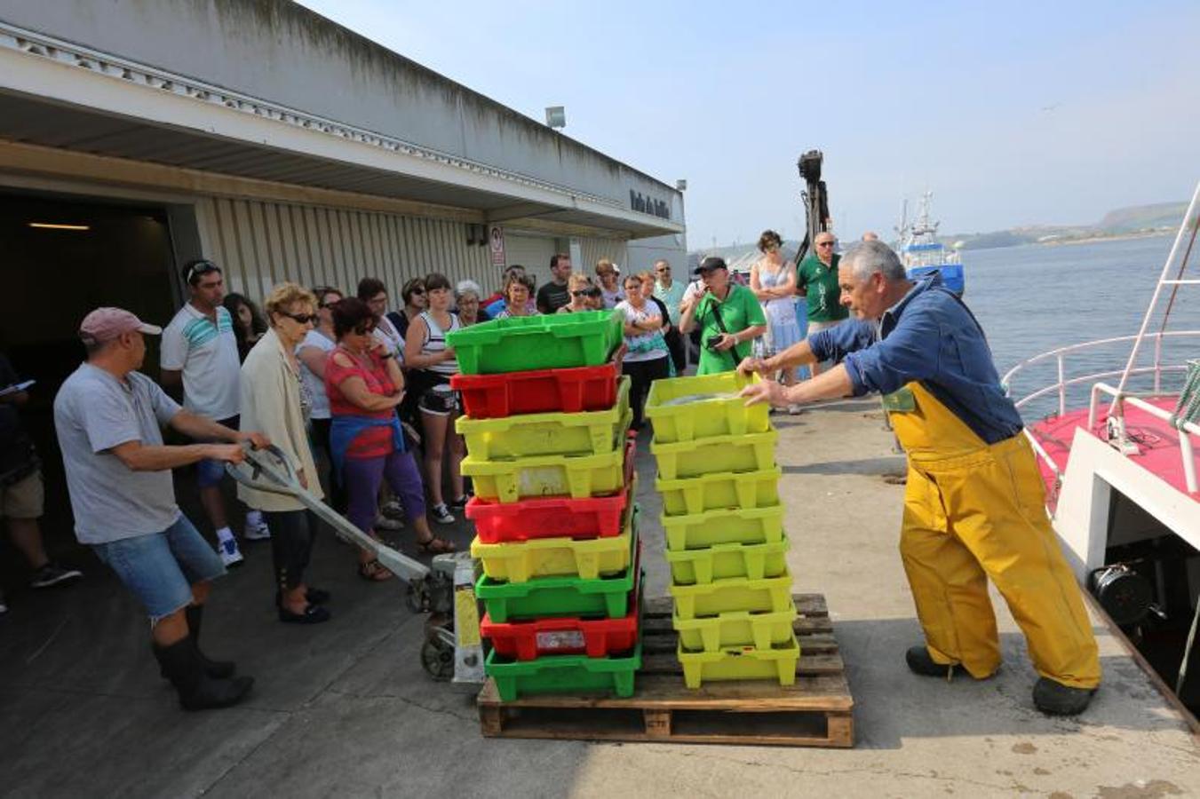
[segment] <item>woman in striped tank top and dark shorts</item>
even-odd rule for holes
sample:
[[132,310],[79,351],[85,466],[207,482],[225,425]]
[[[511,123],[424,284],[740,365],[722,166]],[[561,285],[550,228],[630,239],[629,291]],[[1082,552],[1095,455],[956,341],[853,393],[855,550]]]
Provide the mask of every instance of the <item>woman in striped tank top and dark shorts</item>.
[[442,462],[450,451],[450,487],[454,500],[450,505],[462,510],[467,505],[463,489],[462,463],[467,447],[455,432],[458,419],[458,398],[450,390],[450,378],[458,373],[458,361],[454,349],[446,346],[446,334],[458,330],[462,323],[450,313],[454,290],[445,275],[433,274],[425,278],[425,296],[428,310],[414,317],[404,337],[404,365],[409,372],[410,390],[415,392],[424,428],[425,474],[433,506],[430,515],[434,521],[449,524],[455,521],[450,507],[442,497]]

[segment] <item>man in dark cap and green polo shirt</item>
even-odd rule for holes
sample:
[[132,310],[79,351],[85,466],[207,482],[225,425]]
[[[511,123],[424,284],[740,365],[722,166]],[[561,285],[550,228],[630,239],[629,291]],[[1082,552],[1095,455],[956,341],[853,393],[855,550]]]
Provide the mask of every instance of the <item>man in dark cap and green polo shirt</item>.
[[767,330],[767,317],[754,292],[730,282],[725,260],[706,258],[696,269],[701,288],[680,305],[679,330],[700,328],[700,367],[696,374],[731,372],[750,354],[752,341]]

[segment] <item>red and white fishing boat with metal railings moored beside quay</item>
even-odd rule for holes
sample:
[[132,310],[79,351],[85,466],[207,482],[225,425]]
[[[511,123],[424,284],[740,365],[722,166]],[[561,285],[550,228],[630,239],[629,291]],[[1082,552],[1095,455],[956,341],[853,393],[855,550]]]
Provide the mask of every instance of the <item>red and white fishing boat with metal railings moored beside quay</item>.
[[[1136,334],[1060,347],[1003,378],[1026,415],[1046,510],[1076,578],[1193,725],[1200,711],[1200,330],[1170,323],[1186,301],[1200,301],[1200,269],[1189,263],[1200,257],[1198,233],[1200,186]],[[1052,377],[1039,385],[1038,372]],[[1018,384],[1024,394],[1014,391]],[[1048,402],[1054,410],[1031,421],[1032,409]]]

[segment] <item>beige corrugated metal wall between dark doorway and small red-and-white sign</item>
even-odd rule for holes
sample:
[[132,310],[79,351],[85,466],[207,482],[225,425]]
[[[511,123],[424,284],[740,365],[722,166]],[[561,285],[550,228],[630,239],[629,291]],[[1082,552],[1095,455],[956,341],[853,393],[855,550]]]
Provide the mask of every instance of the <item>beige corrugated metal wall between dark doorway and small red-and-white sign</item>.
[[485,292],[498,282],[488,248],[467,244],[461,222],[229,198],[197,202],[204,253],[226,270],[229,289],[260,300],[281,281],[353,294],[378,277],[398,302],[410,277],[442,272]]

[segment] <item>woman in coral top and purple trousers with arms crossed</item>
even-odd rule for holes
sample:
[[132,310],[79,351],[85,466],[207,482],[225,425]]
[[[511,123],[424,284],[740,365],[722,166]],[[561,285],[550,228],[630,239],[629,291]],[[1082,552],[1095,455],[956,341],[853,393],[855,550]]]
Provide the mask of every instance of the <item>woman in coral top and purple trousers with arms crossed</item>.
[[[332,411],[329,445],[347,493],[346,517],[377,537],[376,501],[386,480],[416,531],[416,545],[425,552],[454,552],[452,543],[433,535],[425,517],[421,474],[396,415],[404,377],[395,355],[374,337],[374,314],[358,298],[342,300],[332,311],[337,348],[325,366],[325,394]],[[378,582],[392,575],[360,549],[359,576]]]

